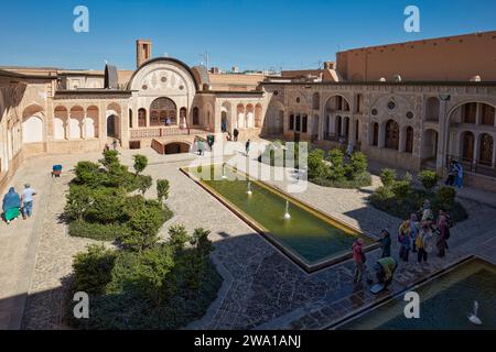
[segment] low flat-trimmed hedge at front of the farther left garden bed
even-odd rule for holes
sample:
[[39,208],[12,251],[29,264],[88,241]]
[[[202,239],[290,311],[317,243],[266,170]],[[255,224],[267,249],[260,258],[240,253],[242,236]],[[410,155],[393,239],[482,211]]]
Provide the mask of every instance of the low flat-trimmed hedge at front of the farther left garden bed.
[[77,238],[87,238],[98,241],[114,241],[126,237],[129,229],[120,223],[98,223],[87,221],[73,221],[68,228],[69,234]]

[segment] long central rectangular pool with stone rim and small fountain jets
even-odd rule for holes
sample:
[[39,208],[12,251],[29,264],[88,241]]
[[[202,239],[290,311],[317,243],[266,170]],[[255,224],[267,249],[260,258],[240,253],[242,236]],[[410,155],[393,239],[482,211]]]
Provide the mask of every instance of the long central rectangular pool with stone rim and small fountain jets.
[[[349,258],[357,238],[364,240],[366,250],[377,246],[359,230],[231,167],[204,167],[217,175],[224,173],[227,179],[202,177],[196,168],[182,170],[308,272]],[[205,169],[201,172],[204,175]],[[284,218],[287,207],[289,219]]]

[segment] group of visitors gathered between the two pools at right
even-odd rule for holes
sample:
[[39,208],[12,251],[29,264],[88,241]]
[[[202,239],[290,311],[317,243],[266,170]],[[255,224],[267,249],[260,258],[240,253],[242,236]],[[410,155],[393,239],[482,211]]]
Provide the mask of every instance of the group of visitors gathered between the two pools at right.
[[[419,220],[420,219],[420,220]],[[409,253],[417,253],[417,262],[419,264],[427,263],[428,254],[438,251],[436,255],[443,257],[449,249],[448,240],[450,239],[450,228],[452,221],[450,215],[445,210],[439,211],[439,217],[434,220],[431,205],[428,199],[424,200],[419,215],[412,213],[409,219],[401,222],[398,229],[399,242],[399,260],[409,261]],[[392,275],[398,267],[397,261],[391,255],[391,234],[387,230],[382,230],[380,239],[381,256],[375,263],[374,271],[378,283],[385,288],[392,282]],[[358,239],[353,244],[353,260],[355,262],[354,282],[362,280],[365,272],[366,255],[364,253],[364,242]],[[368,279],[370,280],[370,278]]]

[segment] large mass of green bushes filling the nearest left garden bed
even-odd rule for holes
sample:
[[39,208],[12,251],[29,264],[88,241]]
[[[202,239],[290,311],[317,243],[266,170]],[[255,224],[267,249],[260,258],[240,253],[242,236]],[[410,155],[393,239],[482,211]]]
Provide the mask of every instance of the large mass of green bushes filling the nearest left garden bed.
[[[74,319],[68,315],[71,323],[82,329],[157,330],[177,329],[200,319],[222,285],[222,277],[209,261],[208,233],[195,230],[193,235],[187,235],[191,246],[182,251],[175,251],[169,241],[142,252],[112,252],[114,261],[101,265],[101,271],[96,264],[99,261],[93,260],[93,270],[77,271],[75,280],[89,272],[93,276],[82,278],[95,283],[74,287],[97,288],[90,294],[90,317]],[[105,257],[98,252],[91,256]]]

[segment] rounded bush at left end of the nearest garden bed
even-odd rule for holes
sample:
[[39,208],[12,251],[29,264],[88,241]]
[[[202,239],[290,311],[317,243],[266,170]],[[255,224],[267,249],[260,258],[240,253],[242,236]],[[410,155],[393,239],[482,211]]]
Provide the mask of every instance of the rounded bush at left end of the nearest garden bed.
[[74,288],[87,294],[103,294],[111,280],[116,252],[104,245],[90,245],[88,251],[74,256]]

